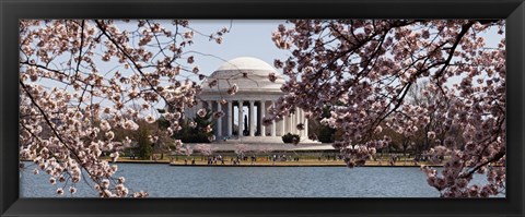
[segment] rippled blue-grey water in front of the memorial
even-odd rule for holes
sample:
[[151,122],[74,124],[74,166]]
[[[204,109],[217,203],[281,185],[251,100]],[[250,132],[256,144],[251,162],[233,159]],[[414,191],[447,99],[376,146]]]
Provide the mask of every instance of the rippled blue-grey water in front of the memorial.
[[[126,177],[132,191],[150,197],[438,197],[425,174],[415,167],[171,167],[118,164],[115,177]],[[62,186],[49,176],[21,172],[22,197],[56,197]],[[483,177],[475,177],[482,183]],[[69,186],[68,186],[69,188]],[[66,188],[66,192],[68,192]],[[85,182],[75,197],[94,197]],[[63,196],[70,196],[65,194]]]

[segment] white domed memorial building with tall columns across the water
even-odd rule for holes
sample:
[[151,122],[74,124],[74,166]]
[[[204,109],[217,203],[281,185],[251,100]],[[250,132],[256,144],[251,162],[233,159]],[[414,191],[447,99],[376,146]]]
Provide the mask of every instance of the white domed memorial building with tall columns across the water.
[[[269,80],[270,73],[275,74],[275,82]],[[282,75],[265,61],[235,58],[223,63],[202,83],[199,95],[202,103],[186,113],[195,116],[200,108],[224,112],[221,118],[213,119],[217,142],[283,143],[281,136],[287,133],[299,134],[305,142],[308,120],[301,109],[282,121],[262,125],[268,108],[282,95],[283,83]],[[231,94],[234,88],[236,93]],[[299,123],[303,123],[305,130],[298,130]]]

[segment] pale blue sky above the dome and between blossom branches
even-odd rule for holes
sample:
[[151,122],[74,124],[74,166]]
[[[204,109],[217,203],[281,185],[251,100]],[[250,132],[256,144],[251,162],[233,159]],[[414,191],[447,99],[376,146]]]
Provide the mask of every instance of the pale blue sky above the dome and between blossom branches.
[[[170,22],[170,21],[164,21]],[[160,22],[162,23],[162,21]],[[116,22],[117,26],[127,28],[127,25],[136,27],[135,22],[126,24],[124,22]],[[238,57],[254,57],[273,65],[275,59],[287,59],[291,56],[290,51],[281,50],[276,47],[271,40],[271,34],[279,24],[285,24],[284,20],[190,20],[189,26],[203,35],[210,35],[223,27],[229,28],[224,34],[222,44],[217,44],[214,40],[209,40],[207,36],[195,34],[194,44],[185,48],[187,55],[192,55],[195,63],[199,67],[200,73],[210,75],[225,61]],[[164,25],[170,26],[170,25]],[[132,29],[132,28],[131,28]],[[485,33],[486,43],[488,47],[497,47],[502,36],[497,34],[498,29],[491,29]],[[184,57],[183,56],[183,57]],[[97,60],[95,60],[97,61]],[[98,60],[100,61],[100,60]],[[118,63],[117,63],[118,64]],[[103,65],[103,64],[100,64]],[[103,67],[101,72],[109,72],[119,70],[120,68],[110,64],[110,67]],[[107,69],[105,69],[107,68]],[[278,70],[280,72],[281,70]],[[197,81],[197,77],[192,77]],[[45,85],[47,86],[47,85]],[[52,84],[49,86],[54,86]],[[162,103],[163,104],[163,103]],[[158,105],[163,107],[162,105]]]

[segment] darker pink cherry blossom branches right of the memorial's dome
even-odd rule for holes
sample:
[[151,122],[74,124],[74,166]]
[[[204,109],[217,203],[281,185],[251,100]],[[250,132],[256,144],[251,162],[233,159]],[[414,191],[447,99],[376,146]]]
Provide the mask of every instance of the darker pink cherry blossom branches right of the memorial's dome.
[[[443,170],[422,166],[428,183],[446,197],[477,197],[505,190],[505,39],[504,21],[492,20],[292,20],[272,34],[277,47],[290,50],[276,60],[288,76],[285,93],[270,119],[296,108],[342,130],[334,146],[348,167],[362,166],[388,136],[383,126],[405,135],[424,128],[440,113],[443,122],[428,132],[428,150]],[[498,32],[489,47],[483,34]],[[269,80],[272,76],[269,75]],[[439,93],[441,104],[410,104],[418,81],[423,92]],[[424,94],[424,93],[423,93]],[[342,106],[341,106],[342,103]],[[338,106],[335,106],[338,105]],[[269,122],[269,121],[266,121]],[[452,129],[462,129],[460,144]],[[444,134],[444,141],[436,141]],[[487,183],[472,184],[475,173]]]

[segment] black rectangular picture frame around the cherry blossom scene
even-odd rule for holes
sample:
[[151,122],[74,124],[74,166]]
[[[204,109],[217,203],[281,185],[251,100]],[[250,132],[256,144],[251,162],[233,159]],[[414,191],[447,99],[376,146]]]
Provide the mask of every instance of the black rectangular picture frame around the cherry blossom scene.
[[[19,19],[506,19],[505,198],[19,198]],[[0,0],[1,216],[525,216],[524,0]]]

